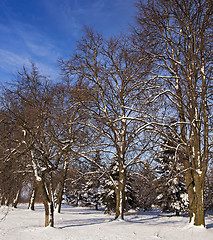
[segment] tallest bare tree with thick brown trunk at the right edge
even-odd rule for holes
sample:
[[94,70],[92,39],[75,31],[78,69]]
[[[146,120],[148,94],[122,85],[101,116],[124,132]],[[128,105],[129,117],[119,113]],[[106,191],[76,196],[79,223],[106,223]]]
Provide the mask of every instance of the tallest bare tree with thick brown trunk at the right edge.
[[135,43],[155,60],[152,73],[162,84],[158,89],[178,116],[176,151],[185,167],[190,221],[205,225],[203,191],[212,144],[212,1],[139,0],[137,9]]

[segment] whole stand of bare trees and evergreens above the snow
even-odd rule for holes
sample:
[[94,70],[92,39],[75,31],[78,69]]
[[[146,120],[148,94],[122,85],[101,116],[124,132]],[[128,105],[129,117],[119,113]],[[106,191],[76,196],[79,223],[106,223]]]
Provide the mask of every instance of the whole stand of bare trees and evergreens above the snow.
[[0,98],[0,206],[213,210],[210,0],[137,1],[135,26],[85,27],[52,81],[23,66]]

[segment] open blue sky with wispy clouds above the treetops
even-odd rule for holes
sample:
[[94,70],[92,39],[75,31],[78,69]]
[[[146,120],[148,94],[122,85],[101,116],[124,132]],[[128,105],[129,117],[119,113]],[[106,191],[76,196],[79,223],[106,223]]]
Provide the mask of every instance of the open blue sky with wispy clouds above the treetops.
[[84,25],[109,37],[134,13],[134,0],[0,0],[0,82],[30,62],[56,79],[57,59],[72,54]]

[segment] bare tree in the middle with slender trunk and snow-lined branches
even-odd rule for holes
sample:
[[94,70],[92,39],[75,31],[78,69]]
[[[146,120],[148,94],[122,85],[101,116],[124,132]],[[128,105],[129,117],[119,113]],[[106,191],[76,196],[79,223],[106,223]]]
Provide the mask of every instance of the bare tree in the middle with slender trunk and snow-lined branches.
[[[86,29],[78,42],[76,54],[61,61],[64,74],[78,84],[78,101],[88,113],[83,124],[93,132],[90,147],[79,154],[98,166],[112,182],[116,219],[123,219],[127,168],[142,159],[151,139],[144,131],[152,89],[150,65],[149,59],[131,48],[127,38],[106,41],[91,29]],[[104,156],[105,166],[93,161],[97,150]],[[118,163],[118,181],[106,171],[107,163],[113,159]]]

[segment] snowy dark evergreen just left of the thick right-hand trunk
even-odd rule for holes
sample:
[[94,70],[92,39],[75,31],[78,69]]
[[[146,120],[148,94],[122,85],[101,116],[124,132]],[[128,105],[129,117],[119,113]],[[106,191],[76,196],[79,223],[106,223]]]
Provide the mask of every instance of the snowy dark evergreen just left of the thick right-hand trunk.
[[[171,121],[172,124],[172,121]],[[163,139],[161,151],[156,159],[158,166],[156,173],[156,204],[162,211],[180,212],[188,209],[187,189],[184,183],[184,166],[177,154],[177,131],[175,128],[168,130],[169,139]]]

